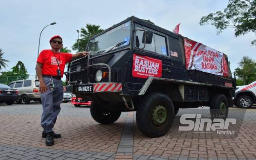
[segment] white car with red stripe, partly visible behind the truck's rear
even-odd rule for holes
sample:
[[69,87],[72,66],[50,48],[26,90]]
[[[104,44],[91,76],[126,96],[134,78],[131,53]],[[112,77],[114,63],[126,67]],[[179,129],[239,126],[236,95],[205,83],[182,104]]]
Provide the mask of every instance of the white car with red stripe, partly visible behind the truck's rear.
[[256,102],[256,81],[248,85],[237,86],[233,102],[238,107],[250,108]]

